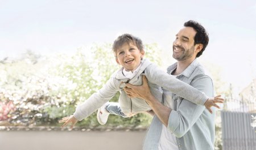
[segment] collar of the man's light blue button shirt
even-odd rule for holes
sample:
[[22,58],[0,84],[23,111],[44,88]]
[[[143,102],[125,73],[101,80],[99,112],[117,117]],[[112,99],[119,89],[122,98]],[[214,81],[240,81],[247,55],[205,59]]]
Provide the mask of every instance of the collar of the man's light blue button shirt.
[[[187,78],[189,78],[189,76],[191,76],[191,74],[193,73],[193,71],[198,65],[199,65],[199,62],[197,61],[197,59],[195,59],[187,68],[185,68],[183,72],[181,72],[180,75],[184,75]],[[174,71],[175,68],[177,68],[177,62],[167,68],[168,74],[171,74],[171,72]]]

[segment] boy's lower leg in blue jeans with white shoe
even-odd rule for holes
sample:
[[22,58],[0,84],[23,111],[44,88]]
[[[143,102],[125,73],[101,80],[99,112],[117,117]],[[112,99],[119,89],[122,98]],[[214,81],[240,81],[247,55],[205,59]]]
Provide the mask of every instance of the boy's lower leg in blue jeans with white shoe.
[[118,102],[106,102],[98,109],[97,120],[101,125],[105,125],[108,121],[109,114],[120,115],[121,117],[126,118],[127,115],[123,114],[121,107]]

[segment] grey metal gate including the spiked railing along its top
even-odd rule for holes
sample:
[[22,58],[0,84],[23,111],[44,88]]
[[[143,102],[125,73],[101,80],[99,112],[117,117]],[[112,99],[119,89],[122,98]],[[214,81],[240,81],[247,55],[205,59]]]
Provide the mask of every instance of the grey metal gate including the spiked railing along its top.
[[256,150],[256,132],[251,126],[256,115],[254,101],[226,101],[221,111],[222,149]]

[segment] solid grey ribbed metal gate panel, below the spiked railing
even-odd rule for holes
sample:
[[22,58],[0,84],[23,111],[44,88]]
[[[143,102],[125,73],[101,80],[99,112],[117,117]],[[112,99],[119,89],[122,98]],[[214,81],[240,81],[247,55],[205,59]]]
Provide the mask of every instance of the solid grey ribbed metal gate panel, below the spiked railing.
[[256,150],[256,132],[251,127],[255,113],[221,112],[222,149]]

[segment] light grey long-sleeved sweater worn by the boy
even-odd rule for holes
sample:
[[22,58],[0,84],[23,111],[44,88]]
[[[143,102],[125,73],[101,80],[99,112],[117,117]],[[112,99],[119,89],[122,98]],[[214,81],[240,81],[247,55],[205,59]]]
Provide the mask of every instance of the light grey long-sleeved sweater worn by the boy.
[[[199,90],[191,87],[191,85],[181,82],[174,76],[167,74],[163,70],[147,59],[141,61],[142,65],[138,73],[130,80],[123,73],[123,68],[117,70],[108,82],[98,91],[85,100],[81,105],[77,106],[74,113],[75,118],[82,120],[95,112],[98,108],[108,102],[118,91],[121,92],[119,104],[122,112],[129,115],[130,113],[144,112],[151,110],[145,100],[141,98],[129,98],[122,90],[124,83],[133,85],[142,85],[142,76],[145,75],[148,80],[152,95],[162,102],[162,88],[175,93],[195,104],[204,105],[208,97]],[[170,99],[171,100],[171,99]]]

